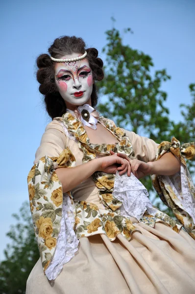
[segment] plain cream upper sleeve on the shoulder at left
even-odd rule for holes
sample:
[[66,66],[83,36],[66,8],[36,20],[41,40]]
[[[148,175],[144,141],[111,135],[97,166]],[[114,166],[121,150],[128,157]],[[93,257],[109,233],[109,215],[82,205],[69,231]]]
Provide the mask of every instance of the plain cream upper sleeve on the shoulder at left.
[[45,129],[40,147],[35,154],[34,164],[45,155],[49,157],[58,157],[65,147],[66,135],[63,126],[57,120],[53,120]]

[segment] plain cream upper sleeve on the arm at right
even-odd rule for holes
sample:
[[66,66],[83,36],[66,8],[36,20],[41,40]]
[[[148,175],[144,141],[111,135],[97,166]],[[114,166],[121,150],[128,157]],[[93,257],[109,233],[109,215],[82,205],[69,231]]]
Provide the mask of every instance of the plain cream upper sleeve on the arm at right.
[[134,132],[124,130],[126,135],[129,137],[135,156],[137,159],[148,162],[156,159],[156,152],[158,145],[153,140],[137,135]]

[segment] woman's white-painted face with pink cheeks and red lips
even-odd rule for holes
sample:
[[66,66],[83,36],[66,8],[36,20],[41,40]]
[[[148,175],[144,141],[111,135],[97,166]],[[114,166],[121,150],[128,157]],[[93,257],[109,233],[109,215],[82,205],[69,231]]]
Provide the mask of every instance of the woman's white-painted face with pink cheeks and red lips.
[[[81,55],[73,53],[60,58],[70,59]],[[86,58],[73,62],[56,63],[55,82],[67,108],[74,110],[77,105],[83,105],[85,103],[91,105],[93,75]]]

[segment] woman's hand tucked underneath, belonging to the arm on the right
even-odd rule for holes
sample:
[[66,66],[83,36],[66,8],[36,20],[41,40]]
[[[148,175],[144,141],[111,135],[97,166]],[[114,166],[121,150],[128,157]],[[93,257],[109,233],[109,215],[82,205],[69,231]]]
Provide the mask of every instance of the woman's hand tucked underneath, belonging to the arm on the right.
[[[146,176],[148,174],[150,174],[151,172],[151,165],[150,163],[146,163],[143,161],[140,161],[138,159],[130,159],[126,154],[123,153],[114,153],[112,150],[110,151],[110,154],[112,154],[112,156],[114,154],[117,155],[117,157],[123,158],[124,160],[128,161],[129,165],[127,168],[127,175],[130,176],[131,172],[133,172],[133,174],[138,178],[142,178],[143,176]],[[121,167],[117,168],[117,171],[121,171]],[[119,173],[121,175],[121,173]]]

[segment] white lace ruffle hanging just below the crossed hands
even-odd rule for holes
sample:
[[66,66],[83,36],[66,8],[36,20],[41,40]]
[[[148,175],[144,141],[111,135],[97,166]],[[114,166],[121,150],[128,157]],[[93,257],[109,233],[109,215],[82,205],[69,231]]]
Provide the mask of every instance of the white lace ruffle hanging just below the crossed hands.
[[146,210],[152,216],[157,213],[148,198],[145,186],[133,173],[130,177],[126,173],[116,173],[113,195],[122,201],[120,210],[121,215],[125,217],[134,217],[139,221]]

